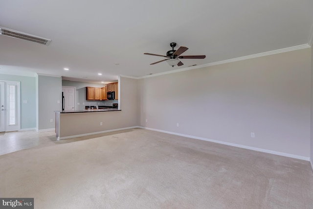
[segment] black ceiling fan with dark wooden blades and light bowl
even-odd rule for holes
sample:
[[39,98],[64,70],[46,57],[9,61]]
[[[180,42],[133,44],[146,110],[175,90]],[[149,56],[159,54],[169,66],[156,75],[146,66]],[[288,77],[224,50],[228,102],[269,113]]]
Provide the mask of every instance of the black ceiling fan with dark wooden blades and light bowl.
[[180,54],[185,52],[188,48],[185,46],[180,46],[177,50],[174,50],[176,43],[171,43],[170,46],[172,47],[172,50],[167,51],[166,56],[165,55],[159,55],[159,54],[144,53],[147,55],[154,55],[154,56],[160,56],[160,57],[167,57],[168,58],[168,59],[161,60],[161,61],[158,61],[155,63],[151,63],[150,65],[154,65],[156,63],[166,61],[172,67],[174,67],[176,65],[182,66],[183,63],[179,59],[204,59],[205,58],[205,55],[180,56]]

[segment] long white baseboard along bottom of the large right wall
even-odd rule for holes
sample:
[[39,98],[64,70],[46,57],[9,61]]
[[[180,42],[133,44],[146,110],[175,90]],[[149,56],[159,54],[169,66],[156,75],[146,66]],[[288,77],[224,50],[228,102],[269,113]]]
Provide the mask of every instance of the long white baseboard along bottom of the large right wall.
[[[163,130],[158,130],[158,129],[153,129],[153,128],[147,128],[147,127],[143,127],[143,126],[139,126],[139,128],[147,129],[147,130],[151,130],[151,131],[163,132],[163,133],[167,133],[167,134],[178,135],[181,137],[188,137],[188,138],[192,138],[192,139],[200,139],[200,140],[204,140],[204,141],[210,141],[210,142],[214,142],[214,143],[225,144],[225,145],[229,145],[229,146],[234,146],[234,147],[239,147],[239,148],[244,148],[244,149],[250,149],[250,150],[254,150],[254,151],[259,151],[259,152],[264,152],[264,153],[269,153],[269,154],[274,154],[274,155],[280,155],[280,156],[284,156],[284,157],[295,158],[295,159],[311,162],[310,158],[308,158],[308,157],[293,155],[293,154],[284,153],[284,152],[277,152],[277,151],[273,151],[273,150],[261,149],[261,148],[257,148],[257,147],[250,147],[250,146],[246,146],[246,145],[229,143],[229,142],[225,142],[225,141],[218,141],[218,140],[206,139],[206,138],[202,138],[202,137],[195,137],[195,136],[179,134],[179,133],[170,132],[170,131],[163,131]],[[311,162],[311,165],[313,166],[312,162]]]

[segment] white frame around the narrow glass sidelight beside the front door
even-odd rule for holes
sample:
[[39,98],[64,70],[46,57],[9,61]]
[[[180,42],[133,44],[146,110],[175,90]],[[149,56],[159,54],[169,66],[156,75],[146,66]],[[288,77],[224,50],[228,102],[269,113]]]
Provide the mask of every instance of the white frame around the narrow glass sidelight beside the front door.
[[[21,82],[20,81],[8,81],[0,80],[4,82],[4,109],[5,109],[5,130],[4,131],[20,131],[21,130]],[[16,86],[16,124],[9,125],[9,85]]]

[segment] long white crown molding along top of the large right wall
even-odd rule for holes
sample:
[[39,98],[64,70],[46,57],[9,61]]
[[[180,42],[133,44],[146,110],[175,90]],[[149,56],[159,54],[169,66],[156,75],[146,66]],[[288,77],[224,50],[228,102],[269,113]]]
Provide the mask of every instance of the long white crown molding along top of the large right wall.
[[[311,32],[311,34],[313,35],[313,32]],[[193,66],[193,67],[188,67],[188,68],[183,68],[183,69],[177,69],[177,70],[171,70],[171,71],[166,71],[166,72],[160,72],[160,73],[156,73],[156,74],[153,74],[153,75],[145,75],[145,76],[138,77],[137,79],[149,78],[149,77],[165,75],[165,74],[170,74],[170,73],[176,73],[176,72],[181,72],[181,71],[186,71],[186,70],[194,70],[194,69],[205,68],[205,67],[210,67],[210,66],[215,66],[215,65],[222,65],[222,64],[225,64],[225,63],[237,62],[237,61],[241,61],[241,60],[247,60],[247,59],[252,59],[252,58],[257,58],[257,57],[263,57],[263,56],[268,56],[268,55],[273,55],[273,54],[279,54],[279,53],[284,53],[284,52],[289,52],[289,51],[294,51],[294,50],[299,50],[299,49],[304,49],[304,48],[310,48],[310,47],[311,46],[309,44],[303,44],[303,45],[298,45],[298,46],[291,46],[291,47],[287,47],[287,48],[282,48],[282,49],[262,52],[262,53],[258,53],[258,54],[252,54],[252,55],[243,56],[243,57],[237,57],[237,58],[233,58],[233,59],[228,59],[228,60],[208,63],[208,64],[204,64],[204,65],[198,65],[198,66]]]

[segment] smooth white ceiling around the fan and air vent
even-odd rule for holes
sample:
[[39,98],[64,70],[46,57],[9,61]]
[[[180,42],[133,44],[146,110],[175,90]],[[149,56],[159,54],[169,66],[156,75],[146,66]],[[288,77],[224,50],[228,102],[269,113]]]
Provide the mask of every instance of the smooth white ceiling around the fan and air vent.
[[[1,0],[0,26],[51,43],[0,36],[0,74],[111,82],[308,44],[312,25],[313,0]],[[149,65],[171,42],[206,58]]]

